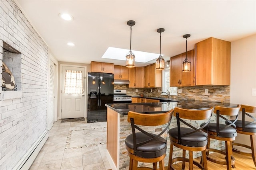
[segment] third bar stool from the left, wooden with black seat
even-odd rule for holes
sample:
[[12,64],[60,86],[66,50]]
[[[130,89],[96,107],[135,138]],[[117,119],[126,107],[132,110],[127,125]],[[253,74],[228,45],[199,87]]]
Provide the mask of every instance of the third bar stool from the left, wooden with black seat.
[[[209,123],[208,127],[204,127],[202,131],[208,131],[208,143],[206,149],[206,157],[207,160],[215,162],[217,164],[226,165],[228,170],[231,170],[231,166],[235,167],[235,158],[232,156],[232,141],[235,140],[236,137],[236,121],[238,119],[238,113],[240,110],[240,105],[236,107],[221,107],[216,106],[214,108],[214,113],[216,113],[216,123]],[[230,121],[228,118],[229,116],[235,116],[236,119]],[[226,125],[221,123],[220,118],[224,119],[224,121],[228,122],[229,124]],[[203,126],[204,124],[202,124]],[[210,139],[216,139],[220,141],[225,141],[225,151],[223,152],[218,149],[210,148]],[[224,154],[226,160],[216,160],[209,156],[209,152],[218,152],[220,154]]]

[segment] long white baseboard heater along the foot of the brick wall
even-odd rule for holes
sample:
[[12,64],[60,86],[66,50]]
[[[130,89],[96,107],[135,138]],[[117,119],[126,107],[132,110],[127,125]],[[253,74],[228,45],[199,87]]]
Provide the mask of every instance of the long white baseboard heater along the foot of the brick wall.
[[36,140],[36,142],[30,147],[28,152],[20,159],[20,161],[14,166],[13,170],[28,170],[38,155],[39,151],[44,146],[44,143],[49,137],[49,131],[46,129],[42,135]]

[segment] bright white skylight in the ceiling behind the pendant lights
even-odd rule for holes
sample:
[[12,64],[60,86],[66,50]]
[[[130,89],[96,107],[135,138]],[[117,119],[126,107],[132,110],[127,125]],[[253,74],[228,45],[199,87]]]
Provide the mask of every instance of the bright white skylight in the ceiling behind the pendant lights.
[[[114,60],[126,60],[126,54],[130,50],[128,49],[120,49],[120,48],[114,48],[114,47],[108,47],[102,58],[105,59],[114,59]],[[132,53],[135,55],[135,61],[140,63],[147,63],[148,61],[157,59],[159,57],[159,54],[155,53],[147,53],[143,51],[135,51],[132,50]],[[164,56],[164,55],[162,55]]]

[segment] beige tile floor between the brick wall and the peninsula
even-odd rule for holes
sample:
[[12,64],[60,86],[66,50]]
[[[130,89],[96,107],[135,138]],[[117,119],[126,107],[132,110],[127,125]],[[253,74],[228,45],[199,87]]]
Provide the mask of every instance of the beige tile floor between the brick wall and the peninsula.
[[56,121],[29,170],[109,170],[106,122]]

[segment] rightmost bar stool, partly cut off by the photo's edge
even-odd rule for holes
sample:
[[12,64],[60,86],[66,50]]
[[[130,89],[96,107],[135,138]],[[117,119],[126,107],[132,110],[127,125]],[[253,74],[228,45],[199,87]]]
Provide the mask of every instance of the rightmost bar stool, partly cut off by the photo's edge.
[[[251,146],[234,142],[232,150],[233,152],[237,152],[239,154],[252,156],[254,165],[256,167],[256,160],[255,160],[256,158],[256,117],[253,117],[251,114],[249,114],[249,113],[256,113],[256,107],[241,105],[240,111],[241,110],[242,110],[242,120],[236,121],[236,132],[244,135],[250,135]],[[252,121],[245,121],[245,116],[250,117],[249,119],[252,119]],[[252,150],[252,153],[242,152],[241,150],[235,149],[234,146],[248,148]]]

